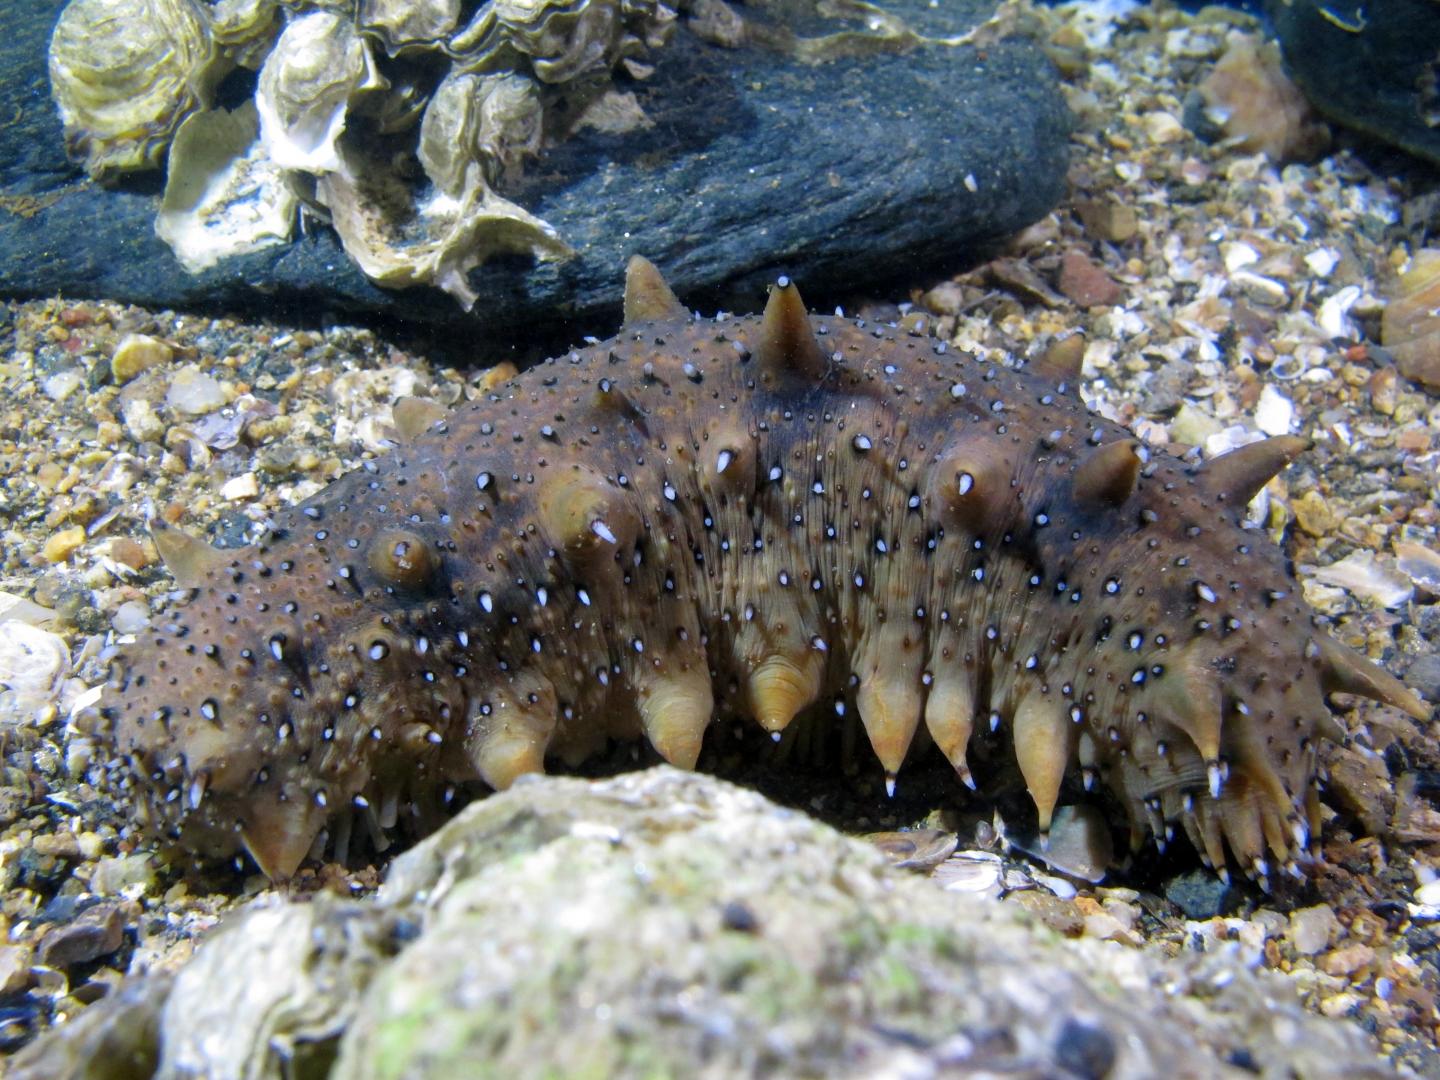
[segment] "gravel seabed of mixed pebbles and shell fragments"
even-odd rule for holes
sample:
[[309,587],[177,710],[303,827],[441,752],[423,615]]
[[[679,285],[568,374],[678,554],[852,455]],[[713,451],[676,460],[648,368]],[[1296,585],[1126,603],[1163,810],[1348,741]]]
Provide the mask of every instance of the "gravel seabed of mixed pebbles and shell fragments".
[[[1001,361],[1080,331],[1086,400],[1153,445],[1315,439],[1264,492],[1261,527],[1339,636],[1434,700],[1440,399],[1378,347],[1385,298],[1424,239],[1417,222],[1434,216],[1424,176],[1377,171],[1394,161],[1344,140],[1277,167],[1197,138],[1197,86],[1228,35],[1257,33],[1236,12],[1017,17],[1066,72],[1070,204],[973,271],[858,298],[861,310]],[[238,543],[383,452],[396,397],[474,397],[507,356],[505,343],[461,351],[348,325],[0,304],[0,618],[14,621],[0,631],[0,1051],[125,972],[183,962],[265,887],[166,865],[88,782],[94,746],[75,716],[104,680],[101,654],[174,588],[147,516]],[[1328,750],[1323,860],[1299,891],[1246,886],[1234,914],[1188,920],[1159,887],[1077,891],[1014,855],[994,880],[984,858],[948,860],[937,886],[1007,884],[1007,901],[1115,948],[1238,949],[1289,972],[1308,1007],[1364,1025],[1377,1054],[1440,1076],[1440,753],[1428,724],[1395,710],[1342,719],[1352,739]],[[288,891],[364,893],[382,873],[311,867]]]

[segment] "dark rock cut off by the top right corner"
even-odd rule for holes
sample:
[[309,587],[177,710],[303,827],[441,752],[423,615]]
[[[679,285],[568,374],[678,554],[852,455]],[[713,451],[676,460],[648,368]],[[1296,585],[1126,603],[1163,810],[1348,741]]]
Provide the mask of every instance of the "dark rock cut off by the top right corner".
[[1338,124],[1440,164],[1434,0],[1267,0],[1290,76]]

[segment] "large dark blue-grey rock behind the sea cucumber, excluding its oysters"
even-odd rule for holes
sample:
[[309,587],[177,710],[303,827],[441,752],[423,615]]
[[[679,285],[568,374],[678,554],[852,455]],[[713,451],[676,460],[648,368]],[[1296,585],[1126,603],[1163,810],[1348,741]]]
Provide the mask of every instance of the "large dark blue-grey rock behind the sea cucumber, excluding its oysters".
[[[1030,40],[806,66],[681,30],[636,84],[652,128],[576,138],[505,192],[579,255],[491,261],[472,275],[474,314],[438,291],[372,285],[328,229],[190,276],[154,235],[157,179],[105,190],[65,161],[45,68],[60,6],[16,7],[0,37],[0,295],[452,328],[559,314],[588,333],[618,310],[634,252],[687,298],[750,302],[785,271],[824,307],[857,282],[971,256],[1044,215],[1064,187],[1068,112]],[[927,33],[962,32],[991,10],[984,0],[890,7]]]

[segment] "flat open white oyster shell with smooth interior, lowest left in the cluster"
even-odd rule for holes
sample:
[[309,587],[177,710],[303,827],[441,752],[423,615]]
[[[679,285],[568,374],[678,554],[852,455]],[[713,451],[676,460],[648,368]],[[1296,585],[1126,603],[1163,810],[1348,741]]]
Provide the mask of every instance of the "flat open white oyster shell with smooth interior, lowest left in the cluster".
[[170,147],[156,233],[187,271],[289,239],[298,199],[265,153],[255,102],[193,114]]

